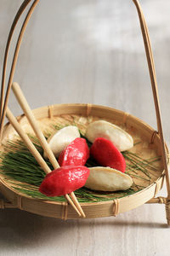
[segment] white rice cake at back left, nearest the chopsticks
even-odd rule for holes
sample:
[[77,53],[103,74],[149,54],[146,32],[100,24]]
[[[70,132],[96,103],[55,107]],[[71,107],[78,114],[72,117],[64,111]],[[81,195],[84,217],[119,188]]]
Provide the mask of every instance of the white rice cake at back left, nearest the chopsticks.
[[[48,138],[48,144],[54,155],[58,157],[61,151],[77,137],[80,137],[77,126],[69,125],[57,132],[55,131],[54,134]],[[47,158],[45,153],[44,157]]]

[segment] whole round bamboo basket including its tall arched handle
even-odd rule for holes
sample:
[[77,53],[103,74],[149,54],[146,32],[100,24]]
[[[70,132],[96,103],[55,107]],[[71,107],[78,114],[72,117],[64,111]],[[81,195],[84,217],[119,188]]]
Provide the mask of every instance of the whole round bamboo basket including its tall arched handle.
[[[37,6],[38,0],[35,0],[27,15],[26,20],[20,30],[18,42],[16,44],[14,52],[14,61],[12,63],[11,72],[9,74],[7,93],[5,100],[4,97],[4,86],[5,86],[5,73],[8,59],[8,48],[10,45],[11,38],[13,36],[14,27],[16,26],[20,16],[26,9],[27,5],[31,3],[31,0],[25,0],[17,15],[14,18],[14,23],[11,26],[11,30],[8,36],[8,43],[5,51],[5,57],[3,62],[3,80],[1,90],[1,150],[4,150],[8,139],[13,139],[16,131],[11,124],[3,125],[4,117],[7,111],[8,96],[11,89],[14,77],[14,68],[17,61],[17,56],[20,49],[21,39],[26,29],[26,24],[31,17],[31,13]],[[167,224],[170,224],[170,183],[168,176],[168,149],[164,143],[162,126],[161,126],[161,114],[157,93],[156,85],[156,71],[154,67],[153,55],[150,48],[150,38],[147,26],[145,24],[144,15],[142,9],[137,0],[133,0],[138,14],[141,26],[141,31],[144,38],[144,47],[148,66],[150,70],[150,81],[153,90],[153,98],[156,107],[156,119],[157,119],[157,131],[145,124],[144,121],[134,117],[129,113],[124,113],[120,110],[108,108],[104,106],[92,105],[92,104],[58,104],[48,106],[44,108],[37,108],[32,110],[38,124],[41,126],[42,131],[45,131],[48,125],[54,122],[65,124],[74,120],[82,130],[85,130],[87,125],[96,119],[105,119],[113,124],[120,125],[124,130],[132,135],[134,142],[140,140],[142,143],[135,146],[135,150],[144,157],[150,158],[150,156],[160,156],[161,160],[158,163],[158,172],[151,173],[150,184],[144,184],[144,189],[133,195],[127,195],[125,197],[117,197],[117,199],[110,201],[99,201],[99,202],[88,202],[81,203],[81,207],[85,212],[86,218],[101,218],[116,216],[118,213],[127,212],[133,208],[139,207],[144,203],[161,203],[165,204],[167,212]],[[21,127],[24,131],[31,131],[25,114],[17,117]],[[152,175],[153,174],[153,175]],[[164,177],[166,178],[167,185],[167,197],[156,197],[156,194],[160,191],[163,185]],[[59,201],[48,201],[35,199],[31,196],[24,195],[18,190],[13,188],[11,180],[5,178],[3,173],[0,174],[0,192],[6,198],[6,200],[0,201],[1,208],[17,207],[21,210],[40,214],[42,216],[53,217],[53,218],[78,218],[77,212],[67,202]]]

